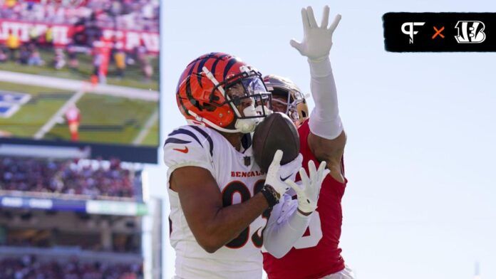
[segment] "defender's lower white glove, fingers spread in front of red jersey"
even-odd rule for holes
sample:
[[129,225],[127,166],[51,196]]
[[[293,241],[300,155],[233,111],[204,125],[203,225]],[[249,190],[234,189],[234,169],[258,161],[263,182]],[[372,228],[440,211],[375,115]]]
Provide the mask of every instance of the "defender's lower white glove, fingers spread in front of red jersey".
[[291,188],[296,191],[298,197],[298,209],[301,212],[309,214],[317,208],[317,201],[319,200],[319,193],[322,186],[322,181],[326,178],[327,174],[331,172],[326,169],[326,162],[321,162],[319,170],[315,168],[314,161],[309,162],[310,177],[306,175],[305,169],[301,168],[299,173],[301,177],[301,185],[294,183],[294,181],[286,181]]

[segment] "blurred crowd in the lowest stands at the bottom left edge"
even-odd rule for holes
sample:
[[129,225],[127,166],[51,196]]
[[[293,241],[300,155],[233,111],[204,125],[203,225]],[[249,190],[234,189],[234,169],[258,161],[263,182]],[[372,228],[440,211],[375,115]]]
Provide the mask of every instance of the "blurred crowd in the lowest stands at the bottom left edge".
[[[64,260],[64,259],[62,259]],[[47,260],[25,255],[0,259],[0,278],[13,279],[138,279],[143,278],[143,265],[116,264],[94,261],[86,263],[78,258],[67,262]]]

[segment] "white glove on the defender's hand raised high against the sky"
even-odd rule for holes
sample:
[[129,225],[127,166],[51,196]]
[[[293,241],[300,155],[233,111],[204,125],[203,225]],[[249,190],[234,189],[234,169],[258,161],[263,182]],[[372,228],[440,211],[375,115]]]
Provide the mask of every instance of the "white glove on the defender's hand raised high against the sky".
[[311,6],[301,9],[301,19],[303,20],[303,41],[298,42],[292,39],[289,43],[296,48],[302,56],[306,56],[313,62],[319,62],[329,56],[332,46],[332,34],[341,20],[341,14],[336,15],[329,28],[329,6],[324,6],[321,26],[317,26],[314,10]]

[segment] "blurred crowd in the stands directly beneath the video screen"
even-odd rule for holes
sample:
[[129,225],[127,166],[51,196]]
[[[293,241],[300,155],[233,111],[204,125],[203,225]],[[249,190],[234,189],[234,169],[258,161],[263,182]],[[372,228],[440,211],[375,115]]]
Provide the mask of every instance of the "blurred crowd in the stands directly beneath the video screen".
[[118,159],[46,160],[0,157],[0,190],[135,197],[133,171]]

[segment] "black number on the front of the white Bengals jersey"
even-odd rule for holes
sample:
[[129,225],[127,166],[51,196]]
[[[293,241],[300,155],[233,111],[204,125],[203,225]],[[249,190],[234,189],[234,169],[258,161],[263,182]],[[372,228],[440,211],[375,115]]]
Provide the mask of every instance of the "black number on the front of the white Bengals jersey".
[[[254,186],[254,194],[257,194],[260,190],[262,190],[262,187],[265,184],[265,180],[259,180],[257,183],[255,183]],[[227,184],[227,186],[224,188],[224,191],[222,191],[222,205],[223,206],[230,206],[232,205],[232,199],[234,198],[234,194],[239,194],[241,196],[241,202],[249,200],[252,195],[249,194],[249,189],[244,183],[241,181],[232,181],[231,183]],[[269,219],[270,212],[272,209],[267,209],[264,211],[262,214],[263,219]],[[260,227],[262,228],[262,227]],[[252,242],[255,247],[260,248],[262,247],[262,244],[264,243],[264,229],[262,229],[261,232],[260,228],[257,229],[252,235]],[[237,238],[234,238],[232,241],[226,244],[227,247],[229,248],[242,248],[247,242],[249,238],[249,226],[244,229],[241,233],[239,233],[239,236]]]

